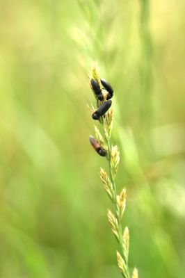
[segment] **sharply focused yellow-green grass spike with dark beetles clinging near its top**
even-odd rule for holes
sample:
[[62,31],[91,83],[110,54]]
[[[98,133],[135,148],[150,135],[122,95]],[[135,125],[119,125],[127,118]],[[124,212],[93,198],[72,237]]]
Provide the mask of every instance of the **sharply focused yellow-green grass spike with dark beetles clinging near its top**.
[[[96,99],[97,108],[91,105],[93,120],[95,120],[95,137],[90,136],[90,143],[100,156],[105,156],[108,161],[109,171],[102,167],[99,174],[104,184],[104,189],[111,199],[113,208],[108,208],[107,217],[111,225],[111,230],[118,241],[119,251],[117,254],[118,268],[124,278],[137,278],[138,270],[134,268],[132,275],[129,272],[129,229],[122,229],[122,218],[126,207],[127,190],[122,188],[117,193],[115,177],[120,163],[120,152],[117,145],[111,144],[111,132],[113,128],[113,108],[112,97],[113,88],[106,80],[100,79],[97,68],[92,67],[89,74],[90,88]],[[100,124],[101,129],[97,126]],[[101,130],[101,131],[100,131]]]

